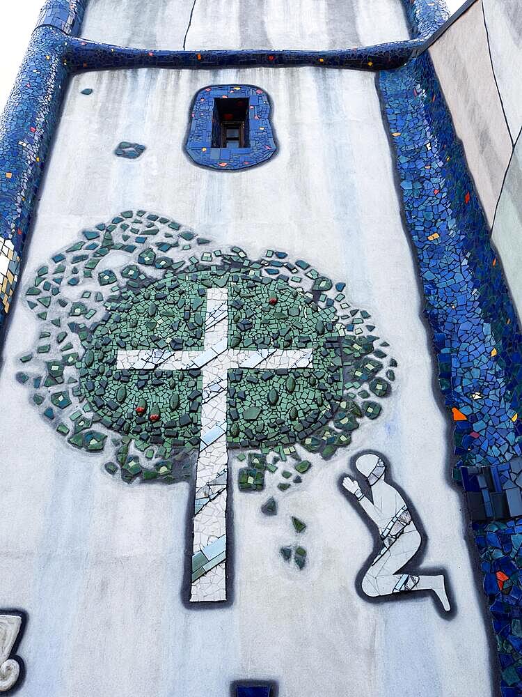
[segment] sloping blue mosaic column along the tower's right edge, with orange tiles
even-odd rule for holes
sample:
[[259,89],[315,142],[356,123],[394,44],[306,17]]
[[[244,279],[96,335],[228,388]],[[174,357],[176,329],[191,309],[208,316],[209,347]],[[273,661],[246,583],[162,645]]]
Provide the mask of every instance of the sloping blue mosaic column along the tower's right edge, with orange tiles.
[[381,72],[379,89],[438,381],[454,420],[454,478],[468,492],[472,516],[484,521],[473,523],[473,533],[502,694],[514,697],[522,694],[522,519],[501,519],[522,510],[522,336],[429,55]]

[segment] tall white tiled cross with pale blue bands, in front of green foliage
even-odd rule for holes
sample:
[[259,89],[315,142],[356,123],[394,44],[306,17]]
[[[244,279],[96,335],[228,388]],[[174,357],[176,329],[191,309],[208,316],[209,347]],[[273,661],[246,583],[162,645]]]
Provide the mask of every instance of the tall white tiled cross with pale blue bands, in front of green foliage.
[[312,365],[313,349],[228,348],[228,289],[207,291],[203,351],[118,350],[119,369],[200,370],[201,435],[196,465],[191,602],[226,600],[228,477],[227,381],[235,368],[292,369]]

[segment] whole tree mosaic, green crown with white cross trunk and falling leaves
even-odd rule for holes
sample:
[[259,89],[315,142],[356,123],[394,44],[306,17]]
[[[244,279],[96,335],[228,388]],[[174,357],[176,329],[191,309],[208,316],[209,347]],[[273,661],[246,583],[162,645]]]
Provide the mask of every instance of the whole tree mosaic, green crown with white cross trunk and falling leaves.
[[[192,602],[227,597],[228,450],[240,491],[276,475],[282,496],[310,470],[303,450],[328,460],[379,416],[397,365],[344,283],[284,252],[251,260],[208,245],[144,210],[84,231],[26,290],[40,333],[17,374],[56,432],[111,475],[194,478]],[[276,498],[262,512],[276,515]],[[283,559],[292,551],[302,569],[306,549]]]

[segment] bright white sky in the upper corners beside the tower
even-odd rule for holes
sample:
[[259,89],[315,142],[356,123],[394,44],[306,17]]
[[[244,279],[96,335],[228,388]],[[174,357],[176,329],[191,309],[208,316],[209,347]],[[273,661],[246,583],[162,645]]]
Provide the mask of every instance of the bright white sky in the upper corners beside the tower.
[[[147,1],[161,2],[162,0]],[[446,0],[451,12],[457,10],[463,1]],[[44,0],[17,0],[16,3],[0,0],[0,45],[2,47],[0,110],[3,109],[9,96],[43,3]]]

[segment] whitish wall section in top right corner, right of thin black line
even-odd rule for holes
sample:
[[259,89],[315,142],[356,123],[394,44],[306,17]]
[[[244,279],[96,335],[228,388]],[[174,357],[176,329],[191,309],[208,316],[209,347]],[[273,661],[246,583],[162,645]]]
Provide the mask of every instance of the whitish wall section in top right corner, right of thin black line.
[[519,0],[482,0],[489,48],[512,138],[522,128],[522,12]]

